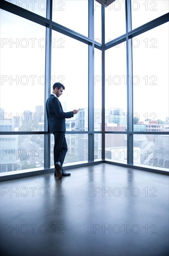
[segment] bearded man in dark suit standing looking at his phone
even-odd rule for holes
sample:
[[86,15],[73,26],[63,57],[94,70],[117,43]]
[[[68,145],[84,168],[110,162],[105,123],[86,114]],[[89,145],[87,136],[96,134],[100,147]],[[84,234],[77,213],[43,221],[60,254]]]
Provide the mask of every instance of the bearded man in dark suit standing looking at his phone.
[[53,92],[50,94],[46,101],[46,114],[48,119],[48,130],[49,133],[54,135],[54,164],[55,164],[55,176],[62,179],[62,176],[68,176],[70,173],[66,173],[62,166],[64,158],[68,151],[66,143],[65,132],[65,118],[71,118],[78,113],[78,110],[74,109],[70,112],[63,112],[62,105],[58,98],[62,95],[64,85],[57,82],[53,85]]

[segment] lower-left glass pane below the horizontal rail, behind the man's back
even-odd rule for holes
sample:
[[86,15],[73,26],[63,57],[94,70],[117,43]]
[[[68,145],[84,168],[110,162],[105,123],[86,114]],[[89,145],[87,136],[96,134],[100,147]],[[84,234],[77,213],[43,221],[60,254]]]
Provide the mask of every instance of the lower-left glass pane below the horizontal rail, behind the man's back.
[[0,172],[44,169],[44,135],[1,135]]

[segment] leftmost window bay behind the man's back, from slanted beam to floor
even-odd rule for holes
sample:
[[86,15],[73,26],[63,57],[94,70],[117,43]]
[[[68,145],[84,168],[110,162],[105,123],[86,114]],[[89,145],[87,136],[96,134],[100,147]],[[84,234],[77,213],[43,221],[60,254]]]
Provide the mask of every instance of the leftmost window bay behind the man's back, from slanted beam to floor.
[[5,10],[0,23],[0,171],[43,168],[45,27]]

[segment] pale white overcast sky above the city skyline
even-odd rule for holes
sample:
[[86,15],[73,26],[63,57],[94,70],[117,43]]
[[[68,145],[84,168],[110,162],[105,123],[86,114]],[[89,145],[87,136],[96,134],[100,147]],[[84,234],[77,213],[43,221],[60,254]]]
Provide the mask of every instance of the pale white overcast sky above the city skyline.
[[[22,7],[30,11],[34,8],[35,13],[44,16],[45,1],[41,4],[36,1],[34,6],[31,2],[27,1],[27,6],[22,3]],[[168,0],[131,3],[133,28],[169,11]],[[94,37],[101,40],[97,2],[94,15]],[[125,34],[124,1],[115,1],[107,7],[105,17],[106,41]],[[88,36],[88,1],[55,1],[53,20]],[[35,112],[36,105],[44,105],[45,27],[3,10],[0,24],[0,108],[13,115],[24,110]],[[139,113],[140,120],[145,119],[146,113],[148,118],[155,113],[156,119],[162,120],[169,116],[168,29],[166,23],[133,40],[134,112]],[[100,108],[101,55],[98,50],[95,52],[94,106]],[[68,111],[88,107],[88,46],[54,31],[51,77],[52,84],[61,81],[65,85],[59,100],[67,103]],[[126,112],[126,43],[106,51],[105,79],[106,108],[123,108]]]

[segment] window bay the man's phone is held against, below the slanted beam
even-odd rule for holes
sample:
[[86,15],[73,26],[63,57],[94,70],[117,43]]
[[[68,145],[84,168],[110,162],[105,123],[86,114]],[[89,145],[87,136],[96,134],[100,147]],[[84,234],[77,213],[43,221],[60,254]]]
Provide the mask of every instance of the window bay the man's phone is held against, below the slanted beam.
[[[88,160],[88,134],[69,132],[88,131],[88,45],[53,31],[52,42],[59,40],[62,40],[62,45],[52,47],[51,85],[60,81],[65,86],[59,98],[64,112],[80,108],[77,115],[66,120],[69,150],[65,163],[85,161]],[[54,136],[51,135],[53,141]]]

